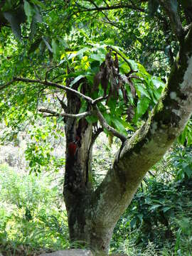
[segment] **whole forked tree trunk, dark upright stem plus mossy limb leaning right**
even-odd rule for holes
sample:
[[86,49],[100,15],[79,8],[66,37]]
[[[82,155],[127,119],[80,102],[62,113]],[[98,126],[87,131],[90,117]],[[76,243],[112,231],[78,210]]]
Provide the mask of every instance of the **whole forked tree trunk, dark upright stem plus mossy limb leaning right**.
[[[192,29],[181,43],[181,50],[171,69],[161,100],[146,123],[131,139],[124,142],[112,169],[96,191],[87,186],[85,178],[92,128],[90,124],[82,125],[83,132],[80,135],[83,139],[73,161],[68,148],[66,150],[64,196],[72,240],[84,241],[95,250],[108,251],[114,225],[131,203],[142,178],[169,149],[191,116],[191,81]],[[70,113],[74,112],[74,104],[77,112],[77,99],[70,99],[69,102]],[[67,145],[77,134],[77,127],[78,123],[74,119],[68,119]],[[72,183],[70,177],[73,177]]]

